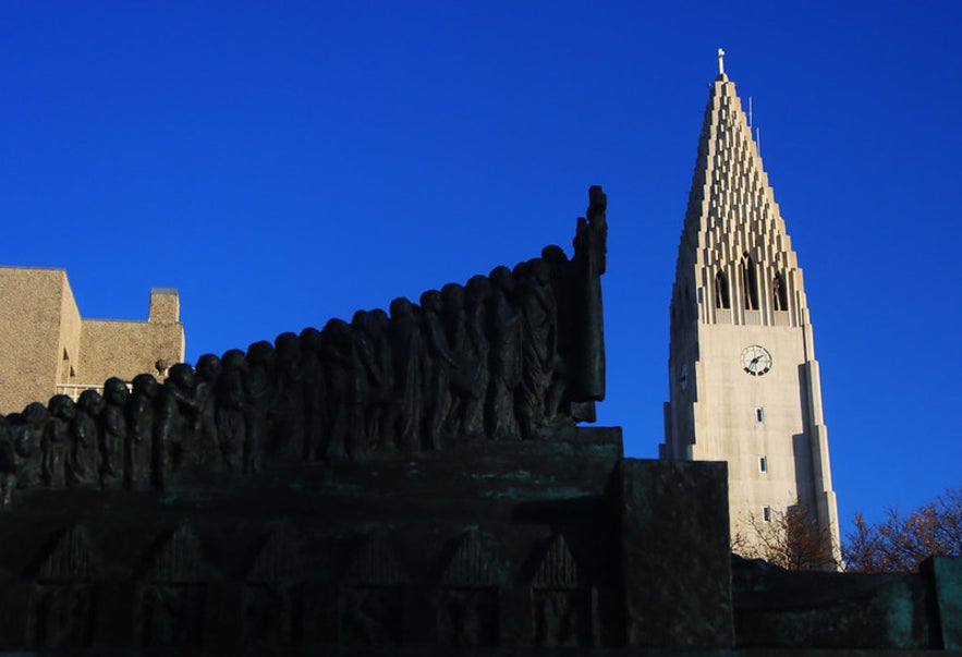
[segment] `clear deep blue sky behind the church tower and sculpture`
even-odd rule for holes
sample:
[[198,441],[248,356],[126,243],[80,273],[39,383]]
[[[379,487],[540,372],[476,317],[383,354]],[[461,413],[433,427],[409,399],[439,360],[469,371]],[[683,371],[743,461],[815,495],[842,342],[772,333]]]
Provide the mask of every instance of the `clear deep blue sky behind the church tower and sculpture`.
[[962,2],[0,3],[0,264],[187,360],[416,299],[609,197],[609,398],[655,458],[716,49],[805,272],[842,531],[962,486]]

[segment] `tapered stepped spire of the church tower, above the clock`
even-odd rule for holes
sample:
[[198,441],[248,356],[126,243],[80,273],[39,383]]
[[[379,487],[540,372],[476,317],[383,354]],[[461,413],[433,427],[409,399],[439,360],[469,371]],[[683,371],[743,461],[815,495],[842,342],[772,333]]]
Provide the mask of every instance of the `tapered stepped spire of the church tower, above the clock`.
[[[704,279],[709,272],[714,279]],[[699,309],[702,321],[807,323],[797,257],[735,85],[723,72],[705,110],[679,247],[677,280],[696,273],[709,301]]]

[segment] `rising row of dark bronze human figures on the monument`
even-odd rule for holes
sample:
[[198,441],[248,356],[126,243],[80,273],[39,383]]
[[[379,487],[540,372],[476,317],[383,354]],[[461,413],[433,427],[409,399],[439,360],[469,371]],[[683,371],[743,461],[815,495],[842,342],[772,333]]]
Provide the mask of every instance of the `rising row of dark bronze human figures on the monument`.
[[390,316],[282,333],[158,382],[108,379],[102,394],[0,416],[0,498],[16,487],[163,489],[185,469],[256,472],[277,459],[363,459],[465,440],[549,438],[604,398],[598,277],[605,195],[592,187],[575,254],[395,299]]

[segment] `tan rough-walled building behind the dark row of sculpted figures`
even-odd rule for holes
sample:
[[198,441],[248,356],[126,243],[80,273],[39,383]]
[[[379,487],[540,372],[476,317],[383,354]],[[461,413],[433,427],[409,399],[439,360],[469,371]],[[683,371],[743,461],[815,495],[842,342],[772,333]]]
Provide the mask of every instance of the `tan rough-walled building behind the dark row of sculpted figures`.
[[176,290],[150,291],[147,321],[86,319],[63,269],[0,267],[0,413],[183,358]]

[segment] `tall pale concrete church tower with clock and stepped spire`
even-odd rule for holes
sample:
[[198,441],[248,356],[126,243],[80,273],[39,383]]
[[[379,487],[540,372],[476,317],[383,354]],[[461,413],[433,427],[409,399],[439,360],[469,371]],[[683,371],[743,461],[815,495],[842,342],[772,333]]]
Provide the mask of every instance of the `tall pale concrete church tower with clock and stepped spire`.
[[803,509],[838,558],[802,269],[722,57],[678,250],[660,455],[728,462],[732,536]]

